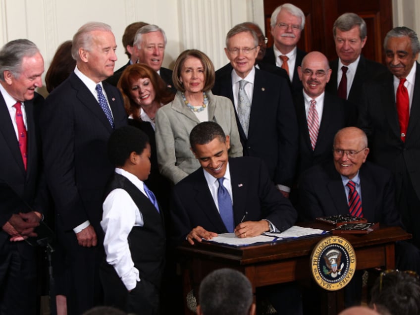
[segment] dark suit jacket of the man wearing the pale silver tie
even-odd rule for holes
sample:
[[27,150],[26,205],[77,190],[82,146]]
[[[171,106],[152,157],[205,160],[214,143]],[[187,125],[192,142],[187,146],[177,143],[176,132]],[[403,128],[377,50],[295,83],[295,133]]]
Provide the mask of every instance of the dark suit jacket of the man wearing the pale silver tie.
[[[233,104],[231,74],[216,73],[212,91]],[[237,113],[236,122],[244,156],[262,158],[274,183],[291,187],[298,155],[298,123],[287,81],[256,69],[248,138]]]

